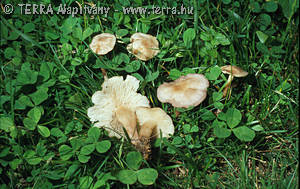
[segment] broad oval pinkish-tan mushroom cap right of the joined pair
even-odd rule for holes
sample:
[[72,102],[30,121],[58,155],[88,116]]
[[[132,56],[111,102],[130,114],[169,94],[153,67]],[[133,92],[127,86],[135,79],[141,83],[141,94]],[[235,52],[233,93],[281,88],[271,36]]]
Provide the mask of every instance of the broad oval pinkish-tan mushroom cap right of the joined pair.
[[163,83],[157,89],[160,102],[168,102],[174,107],[198,106],[205,98],[208,80],[202,74],[188,74],[170,83]]

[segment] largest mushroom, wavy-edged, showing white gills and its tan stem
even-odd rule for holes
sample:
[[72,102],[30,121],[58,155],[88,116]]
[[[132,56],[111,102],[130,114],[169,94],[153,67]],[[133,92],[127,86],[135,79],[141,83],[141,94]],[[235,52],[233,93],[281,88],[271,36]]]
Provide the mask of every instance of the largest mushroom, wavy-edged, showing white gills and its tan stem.
[[130,139],[136,140],[136,108],[150,107],[148,99],[137,93],[138,87],[139,80],[130,75],[125,80],[122,76],[105,80],[102,90],[92,96],[94,106],[87,110],[94,126],[105,128],[110,137],[117,138],[125,137],[125,129]]

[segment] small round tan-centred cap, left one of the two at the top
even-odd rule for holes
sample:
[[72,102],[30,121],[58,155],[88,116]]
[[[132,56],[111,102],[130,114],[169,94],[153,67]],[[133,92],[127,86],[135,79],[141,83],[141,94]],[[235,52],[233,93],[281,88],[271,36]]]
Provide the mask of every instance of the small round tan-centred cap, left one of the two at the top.
[[110,33],[102,33],[99,35],[96,35],[91,44],[90,48],[92,51],[98,55],[105,55],[113,48],[116,44],[116,37],[113,34]]

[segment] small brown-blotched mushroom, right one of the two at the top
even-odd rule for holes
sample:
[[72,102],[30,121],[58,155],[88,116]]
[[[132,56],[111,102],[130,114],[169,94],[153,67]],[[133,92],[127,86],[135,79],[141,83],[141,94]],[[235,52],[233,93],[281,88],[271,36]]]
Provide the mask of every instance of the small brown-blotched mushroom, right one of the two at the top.
[[140,60],[147,61],[159,53],[159,43],[152,35],[135,33],[130,37],[130,42],[128,52]]

